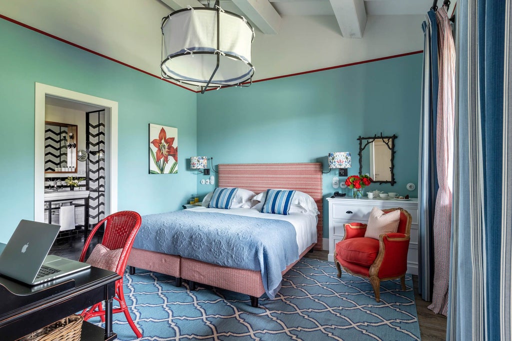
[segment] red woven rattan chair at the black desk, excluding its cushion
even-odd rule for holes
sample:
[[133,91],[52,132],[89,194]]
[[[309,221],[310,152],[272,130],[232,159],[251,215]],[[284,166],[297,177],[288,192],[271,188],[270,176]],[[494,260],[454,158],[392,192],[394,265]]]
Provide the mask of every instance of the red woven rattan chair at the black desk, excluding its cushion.
[[[89,238],[85,245],[83,246],[82,254],[80,255],[80,262],[83,262],[91,240],[94,237],[94,234],[98,230],[98,228],[105,223],[105,232],[103,234],[103,239],[101,244],[105,247],[108,247],[111,250],[116,250],[122,248],[121,255],[119,257],[119,261],[117,262],[116,272],[122,277],[124,274],[124,270],[126,269],[126,263],[128,262],[128,258],[130,256],[130,251],[132,250],[132,245],[135,240],[135,236],[139,231],[139,227],[141,224],[141,217],[137,212],[133,211],[120,211],[114,213],[102,221],[100,221],[91,231]],[[128,311],[128,307],[126,306],[126,302],[124,301],[123,294],[123,279],[121,278],[116,282],[116,294],[114,299],[119,302],[119,308],[113,309],[112,313],[123,312],[124,316],[126,316],[126,321],[130,324],[133,331],[137,335],[137,337],[142,337],[142,334],[135,326],[132,316],[130,316],[130,312]],[[81,315],[84,320],[88,320],[91,317],[100,316],[101,321],[105,321],[105,311],[103,310],[102,302],[95,304],[94,306],[84,310]]]

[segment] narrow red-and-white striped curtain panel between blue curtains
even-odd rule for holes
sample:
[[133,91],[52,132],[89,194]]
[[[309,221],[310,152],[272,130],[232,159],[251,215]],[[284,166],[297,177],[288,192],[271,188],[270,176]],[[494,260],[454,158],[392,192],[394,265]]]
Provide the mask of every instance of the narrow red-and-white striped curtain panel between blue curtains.
[[437,190],[434,211],[434,288],[429,309],[446,315],[452,227],[453,128],[455,112],[455,44],[443,5],[436,12],[439,48],[439,92],[436,124]]

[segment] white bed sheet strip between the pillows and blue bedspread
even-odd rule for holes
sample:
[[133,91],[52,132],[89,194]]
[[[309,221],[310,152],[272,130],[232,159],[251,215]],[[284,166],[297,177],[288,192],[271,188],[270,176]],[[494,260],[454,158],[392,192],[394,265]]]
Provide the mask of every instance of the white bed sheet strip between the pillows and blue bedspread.
[[316,243],[316,223],[318,222],[318,216],[312,214],[301,214],[292,213],[290,215],[275,215],[269,213],[262,213],[257,209],[252,208],[231,208],[231,209],[220,209],[220,208],[207,208],[207,207],[194,207],[187,208],[187,210],[193,210],[197,212],[217,212],[227,215],[238,215],[247,217],[256,217],[264,219],[276,219],[285,220],[295,227],[297,235],[297,246],[298,254],[301,254],[306,250],[308,246]]

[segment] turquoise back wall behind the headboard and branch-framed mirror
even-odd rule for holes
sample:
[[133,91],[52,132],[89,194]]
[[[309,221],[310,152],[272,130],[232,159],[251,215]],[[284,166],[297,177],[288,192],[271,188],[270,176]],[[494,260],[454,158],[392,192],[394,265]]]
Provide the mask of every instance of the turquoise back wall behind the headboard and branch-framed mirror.
[[[396,184],[367,189],[417,197],[406,185],[418,182],[421,69],[415,54],[198,95],[198,155],[215,164],[321,161],[328,171],[329,152],[351,152],[353,175],[357,137],[396,134]],[[336,169],[323,177],[324,198],[336,190],[334,176]],[[212,188],[198,183],[201,195]]]

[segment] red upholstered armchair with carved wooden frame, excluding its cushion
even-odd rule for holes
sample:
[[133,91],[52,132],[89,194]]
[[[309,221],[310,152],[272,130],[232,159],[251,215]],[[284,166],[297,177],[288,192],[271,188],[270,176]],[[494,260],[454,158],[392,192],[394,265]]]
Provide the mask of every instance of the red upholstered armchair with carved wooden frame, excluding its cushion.
[[380,302],[380,281],[399,278],[402,290],[406,289],[407,252],[411,233],[411,215],[403,208],[390,208],[388,213],[400,210],[396,233],[380,235],[379,239],[365,238],[367,224],[345,224],[345,238],[336,243],[334,262],[338,277],[343,268],[361,278],[368,278],[375,292],[375,301]]

